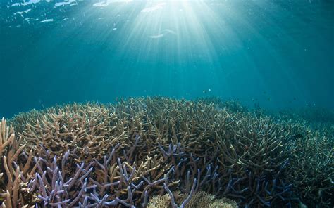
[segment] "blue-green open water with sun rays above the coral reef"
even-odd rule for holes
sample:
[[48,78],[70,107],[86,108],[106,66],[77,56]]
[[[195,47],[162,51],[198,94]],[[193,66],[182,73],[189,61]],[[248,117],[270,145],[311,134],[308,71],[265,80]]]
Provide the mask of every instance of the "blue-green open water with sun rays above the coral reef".
[[334,108],[334,1],[1,0],[1,116],[116,97]]

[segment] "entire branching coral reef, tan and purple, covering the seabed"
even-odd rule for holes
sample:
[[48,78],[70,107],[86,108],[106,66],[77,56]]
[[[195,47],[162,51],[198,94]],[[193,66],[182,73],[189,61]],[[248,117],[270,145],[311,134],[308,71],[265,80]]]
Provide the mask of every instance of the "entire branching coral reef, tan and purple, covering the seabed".
[[232,102],[71,104],[0,129],[2,207],[333,207],[334,134]]

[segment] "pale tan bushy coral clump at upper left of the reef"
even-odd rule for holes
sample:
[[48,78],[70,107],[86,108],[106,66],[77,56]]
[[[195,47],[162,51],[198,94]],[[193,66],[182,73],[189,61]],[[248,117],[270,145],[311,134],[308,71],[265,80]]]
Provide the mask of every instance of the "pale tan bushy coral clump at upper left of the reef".
[[78,155],[78,161],[99,160],[112,145],[123,143],[126,138],[124,131],[119,129],[116,115],[104,105],[58,106],[21,114],[17,119],[15,124],[23,129],[19,136],[27,144],[26,149],[37,154],[42,148],[49,150],[51,155],[70,150],[72,155]]

